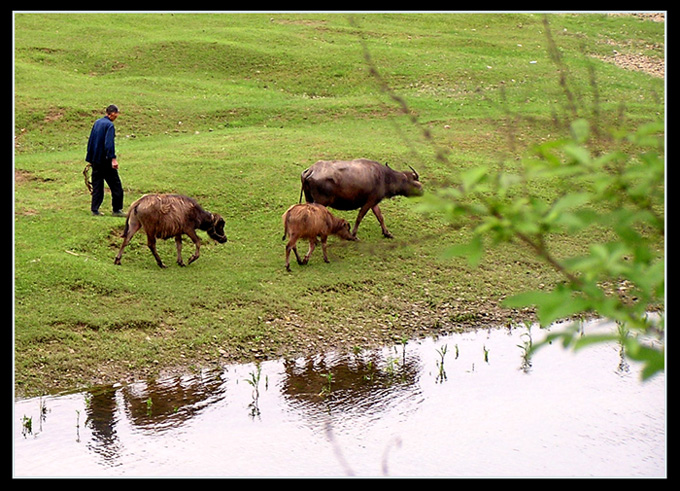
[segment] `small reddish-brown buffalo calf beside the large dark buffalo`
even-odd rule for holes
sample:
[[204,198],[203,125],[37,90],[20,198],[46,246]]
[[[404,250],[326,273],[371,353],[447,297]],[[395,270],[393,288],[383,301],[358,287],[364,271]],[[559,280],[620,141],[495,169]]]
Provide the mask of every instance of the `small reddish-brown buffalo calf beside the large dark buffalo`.
[[[321,239],[323,249],[323,260],[328,262],[326,254],[326,239],[329,235],[337,235],[346,240],[355,240],[349,231],[349,223],[344,218],[334,217],[325,206],[315,203],[302,203],[293,205],[282,216],[283,219],[283,238],[289,237],[286,244],[286,270],[290,271],[290,251],[295,253],[298,264],[307,264],[309,256],[312,255],[316,247],[316,238]],[[300,260],[297,252],[296,243],[299,239],[309,240],[309,252]]]

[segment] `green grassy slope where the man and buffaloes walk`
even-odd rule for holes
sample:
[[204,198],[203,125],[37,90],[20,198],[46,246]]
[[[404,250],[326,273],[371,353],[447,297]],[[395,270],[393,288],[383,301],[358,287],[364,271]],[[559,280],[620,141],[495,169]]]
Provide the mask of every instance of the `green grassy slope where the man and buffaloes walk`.
[[[481,163],[514,165],[529,145],[554,138],[563,95],[540,15],[14,19],[20,394],[502,323],[522,313],[499,309],[501,298],[557,280],[519,247],[495,250],[476,269],[443,258],[447,245],[469,236],[468,224],[425,215],[418,199],[382,206],[394,240],[382,238],[372,215],[360,242],[331,239],[330,264],[317,251],[286,273],[281,241],[281,214],[316,160],[411,164],[433,189]],[[584,108],[592,107],[594,67],[605,124],[621,103],[624,124],[663,114],[663,79],[591,56],[611,53],[615,42],[620,52],[644,47],[663,57],[663,24],[606,15],[550,21]],[[432,141],[381,93],[362,40]],[[174,264],[174,242],[160,242],[170,265],[160,270],[140,233],[122,265],[113,264],[124,220],[89,216],[81,175],[90,127],[110,103],[122,111],[125,205],[150,192],[193,196],[225,217],[229,242],[201,234],[201,258],[186,268]],[[527,118],[512,120],[504,108]],[[448,150],[449,164],[437,161],[433,144]],[[554,247],[587,240],[557,237]],[[191,248],[186,240],[185,257]]]

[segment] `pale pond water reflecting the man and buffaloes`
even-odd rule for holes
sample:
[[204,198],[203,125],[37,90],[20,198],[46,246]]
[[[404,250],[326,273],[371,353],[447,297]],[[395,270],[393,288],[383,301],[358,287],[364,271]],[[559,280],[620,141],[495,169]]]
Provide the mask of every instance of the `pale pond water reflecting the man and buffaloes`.
[[17,400],[14,476],[666,477],[665,375],[538,331]]

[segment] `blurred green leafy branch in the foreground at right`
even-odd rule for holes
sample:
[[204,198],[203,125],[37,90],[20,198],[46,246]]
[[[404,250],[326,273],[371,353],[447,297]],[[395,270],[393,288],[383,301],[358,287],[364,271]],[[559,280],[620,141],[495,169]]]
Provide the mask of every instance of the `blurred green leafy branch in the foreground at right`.
[[[467,244],[454,244],[448,254],[465,256],[478,264],[488,242],[520,242],[553,267],[562,277],[552,291],[529,291],[504,300],[507,307],[534,305],[542,327],[557,320],[595,314],[616,321],[612,335],[584,335],[577,326],[550,334],[546,342],[561,340],[574,349],[593,342],[617,340],[629,358],[644,364],[643,378],[664,369],[664,321],[649,313],[663,305],[665,296],[664,221],[664,124],[652,122],[638,129],[604,135],[599,127],[599,95],[594,72],[590,85],[596,122],[578,116],[569,71],[544,20],[548,53],[559,75],[567,101],[569,135],[533,147],[519,172],[478,166],[460,175],[460,184],[429,194],[425,208],[446,213],[451,221],[467,219],[475,224]],[[375,66],[365,43],[364,58],[382,92],[435,147],[437,160],[448,163],[447,152],[437,147],[430,131],[422,127],[406,100],[395,93]],[[516,116],[515,116],[516,117]],[[589,148],[592,136],[613,148],[608,152]],[[550,182],[557,197],[533,190]],[[555,184],[556,183],[556,184]],[[557,257],[549,247],[551,237],[584,233],[597,228],[608,238],[595,243],[587,254]],[[617,294],[626,288],[633,301]],[[625,334],[620,334],[625,333]],[[534,344],[532,350],[541,346]]]

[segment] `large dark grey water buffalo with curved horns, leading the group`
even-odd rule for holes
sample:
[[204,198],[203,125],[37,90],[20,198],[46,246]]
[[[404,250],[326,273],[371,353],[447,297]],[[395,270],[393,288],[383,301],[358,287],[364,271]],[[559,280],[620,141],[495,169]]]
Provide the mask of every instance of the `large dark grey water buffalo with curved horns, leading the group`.
[[[409,166],[410,167],[410,166]],[[361,220],[373,210],[383,235],[392,237],[385,226],[378,204],[393,196],[421,196],[423,187],[418,173],[400,172],[387,164],[367,159],[320,160],[300,176],[302,194],[308,203],[318,203],[336,210],[359,209],[352,235],[356,237]]]

